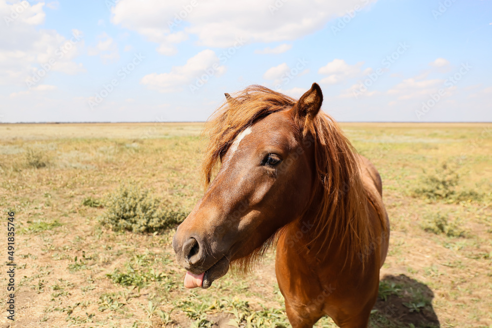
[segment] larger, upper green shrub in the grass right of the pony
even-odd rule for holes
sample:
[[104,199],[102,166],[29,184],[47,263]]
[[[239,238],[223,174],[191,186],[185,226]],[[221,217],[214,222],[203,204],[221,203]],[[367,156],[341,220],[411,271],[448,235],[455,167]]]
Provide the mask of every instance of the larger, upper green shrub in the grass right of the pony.
[[456,172],[456,167],[443,163],[435,169],[434,173],[421,179],[420,186],[414,190],[414,196],[431,200],[452,199],[456,194],[455,187],[459,180],[460,176]]

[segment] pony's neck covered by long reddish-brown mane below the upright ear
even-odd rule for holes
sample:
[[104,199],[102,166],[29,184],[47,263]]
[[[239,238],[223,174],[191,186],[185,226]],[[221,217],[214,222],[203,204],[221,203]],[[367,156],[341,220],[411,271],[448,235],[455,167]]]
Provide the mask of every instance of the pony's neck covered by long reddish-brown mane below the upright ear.
[[321,260],[329,255],[354,263],[372,239],[368,195],[359,156],[328,118],[313,123],[313,194],[307,209],[287,229],[296,248]]

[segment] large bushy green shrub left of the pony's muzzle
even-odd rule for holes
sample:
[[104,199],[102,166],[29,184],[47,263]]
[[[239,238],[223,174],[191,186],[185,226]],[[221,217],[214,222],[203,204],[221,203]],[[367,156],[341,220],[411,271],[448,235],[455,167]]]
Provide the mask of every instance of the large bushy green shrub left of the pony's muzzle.
[[101,223],[115,231],[154,232],[182,222],[183,210],[161,209],[150,190],[134,183],[122,184],[106,201],[107,211]]

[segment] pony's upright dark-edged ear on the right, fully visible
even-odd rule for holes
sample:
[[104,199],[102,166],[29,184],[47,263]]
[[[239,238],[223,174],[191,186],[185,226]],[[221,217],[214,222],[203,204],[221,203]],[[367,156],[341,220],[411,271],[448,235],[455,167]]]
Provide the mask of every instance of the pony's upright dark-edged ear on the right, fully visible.
[[317,83],[313,83],[311,89],[307,90],[292,108],[294,119],[300,127],[307,127],[307,124],[318,114],[322,102],[321,88]]

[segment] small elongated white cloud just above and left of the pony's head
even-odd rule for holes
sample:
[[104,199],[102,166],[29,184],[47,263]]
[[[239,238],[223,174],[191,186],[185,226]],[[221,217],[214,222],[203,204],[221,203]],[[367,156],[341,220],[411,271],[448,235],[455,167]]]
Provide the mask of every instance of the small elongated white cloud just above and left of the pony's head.
[[[200,79],[203,75],[220,76],[225,72],[215,52],[207,49],[186,61],[183,66],[173,66],[169,73],[152,73],[144,76],[140,83],[159,92],[179,92],[184,86]],[[212,74],[211,74],[212,73]]]

